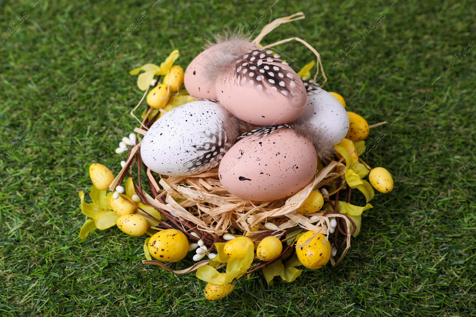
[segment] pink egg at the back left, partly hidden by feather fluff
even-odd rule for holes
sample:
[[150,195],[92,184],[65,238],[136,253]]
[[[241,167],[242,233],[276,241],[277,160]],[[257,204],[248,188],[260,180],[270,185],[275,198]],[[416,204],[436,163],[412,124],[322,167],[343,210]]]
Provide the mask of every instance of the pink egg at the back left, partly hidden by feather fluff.
[[199,99],[218,100],[215,83],[208,81],[208,77],[205,76],[207,60],[215,57],[217,49],[217,47],[211,47],[204,50],[188,64],[185,70],[184,84],[191,96]]

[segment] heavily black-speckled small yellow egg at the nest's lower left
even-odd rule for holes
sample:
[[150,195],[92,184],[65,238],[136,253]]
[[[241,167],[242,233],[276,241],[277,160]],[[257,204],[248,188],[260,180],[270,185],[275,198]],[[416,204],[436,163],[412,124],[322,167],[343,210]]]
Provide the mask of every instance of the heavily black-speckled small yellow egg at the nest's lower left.
[[188,252],[188,240],[182,231],[166,229],[150,237],[149,253],[161,262],[177,262]]

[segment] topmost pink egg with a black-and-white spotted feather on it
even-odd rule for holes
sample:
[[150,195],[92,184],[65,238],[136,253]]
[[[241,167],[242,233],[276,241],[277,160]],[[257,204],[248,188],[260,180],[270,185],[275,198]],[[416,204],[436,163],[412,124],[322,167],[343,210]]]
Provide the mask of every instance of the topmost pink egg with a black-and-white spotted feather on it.
[[216,83],[220,105],[254,125],[281,125],[296,120],[307,104],[301,78],[279,55],[254,48],[238,59],[233,71]]

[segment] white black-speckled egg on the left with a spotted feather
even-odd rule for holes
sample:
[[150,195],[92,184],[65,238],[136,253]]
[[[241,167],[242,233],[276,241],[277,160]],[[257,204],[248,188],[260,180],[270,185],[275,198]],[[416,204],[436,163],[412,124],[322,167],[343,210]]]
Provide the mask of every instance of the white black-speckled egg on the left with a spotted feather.
[[152,171],[186,176],[218,166],[233,145],[238,126],[211,101],[193,101],[162,115],[142,139],[140,154]]

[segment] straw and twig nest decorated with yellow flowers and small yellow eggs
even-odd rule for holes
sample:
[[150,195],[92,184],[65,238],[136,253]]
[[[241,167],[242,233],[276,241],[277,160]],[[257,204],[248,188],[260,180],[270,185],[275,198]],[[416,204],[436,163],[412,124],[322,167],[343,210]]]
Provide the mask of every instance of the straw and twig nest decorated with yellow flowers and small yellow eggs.
[[[297,19],[304,19],[304,14],[299,12],[274,20],[264,27],[253,43],[259,45],[261,39],[278,25]],[[317,73],[312,81],[313,85],[310,86],[316,86],[319,67],[325,83],[327,77],[322,68],[319,53],[307,42],[300,38],[288,38],[264,47],[274,47],[289,40],[297,40],[305,44],[317,57]],[[134,129],[135,133],[147,134],[151,126],[163,114],[195,100],[186,90],[171,93],[171,85],[169,85],[165,89],[169,97],[164,99],[164,105],[159,106],[159,109],[147,106],[142,113],[142,120],[134,114],[143,104],[144,98],[148,96],[150,86],[158,86],[162,75],[169,76],[170,69],[177,58],[178,51],[174,51],[160,67],[147,64],[131,71],[131,74],[137,74],[140,70],[145,71],[139,75],[138,79],[139,88],[145,90],[144,96],[130,113],[140,123],[140,126]],[[313,66],[314,62],[308,64],[298,75],[303,80],[309,79],[310,68]],[[159,75],[158,78],[154,79],[155,75]],[[152,85],[150,85],[151,82]],[[350,125],[352,124],[351,118]],[[381,124],[383,123],[377,125]],[[367,130],[373,126],[367,125]],[[241,126],[240,132],[247,132],[254,127]],[[166,176],[153,172],[143,162],[141,142],[136,139],[136,134],[123,138],[123,142],[116,150],[118,154],[128,152],[128,155],[121,163],[121,171],[115,177],[111,176],[112,173],[108,168],[100,164],[93,164],[94,167],[91,165],[89,172],[95,185],[89,194],[92,203],[84,202],[84,194],[82,192],[79,194],[81,210],[92,219],[85,222],[81,228],[80,237],[84,239],[92,230],[104,230],[116,224],[122,231],[131,235],[147,233],[152,238],[145,241],[144,252],[147,260],[142,262],[158,265],[175,274],[197,270],[197,277],[209,283],[205,290],[208,299],[219,299],[228,295],[238,279],[258,269],[262,269],[268,283],[272,283],[272,279],[278,275],[289,282],[293,281],[302,272],[295,268],[301,264],[312,269],[326,265],[327,261],[330,261],[332,266],[338,265],[350,248],[351,236],[356,236],[360,231],[361,213],[372,208],[368,201],[373,198],[374,190],[370,183],[362,179],[371,168],[358,157],[366,152],[364,141],[352,142],[346,139],[347,143],[341,142],[336,145],[333,154],[323,160],[324,164],[318,164],[311,182],[293,195],[278,200],[252,201],[228,192],[220,182],[218,168],[188,176]],[[372,185],[382,192],[391,190],[390,185],[393,186],[393,181],[391,184],[388,180],[385,183],[380,174],[369,176]],[[374,182],[372,177],[375,179]],[[386,186],[386,189],[380,189],[382,184]],[[111,192],[108,193],[108,189]],[[350,204],[351,193],[355,189],[366,196],[366,206],[359,207]],[[317,200],[322,201],[317,210],[308,208]],[[127,204],[128,207],[123,209],[119,206],[119,202],[123,205]],[[137,231],[139,227],[136,226],[128,231],[127,228],[130,227],[132,220],[126,218],[131,214],[141,216],[139,218],[145,219],[147,224],[144,222],[144,225],[140,226],[137,223],[142,228],[141,230]],[[132,225],[135,226],[136,223]],[[175,231],[166,231],[168,229]],[[193,258],[197,263],[192,267],[172,270],[167,264],[176,261],[174,256],[161,259],[157,256],[157,252],[151,254],[157,246],[155,242],[159,241],[160,237],[166,239],[164,238],[166,234],[162,233],[176,231],[183,233],[186,240],[182,240],[188,243],[188,250],[183,252],[179,250],[182,255],[187,251],[196,253]],[[229,246],[230,242],[237,237],[249,238],[254,246],[248,249],[245,246],[241,253],[236,251],[239,247]],[[268,241],[265,239],[267,237],[274,237],[269,238],[269,241],[279,240],[278,247],[270,249],[269,245],[264,245],[263,241]],[[317,241],[316,239],[323,242],[322,246],[319,246],[324,250],[320,253],[322,259],[312,257],[313,255],[310,254],[313,250],[315,251],[311,247]],[[167,241],[174,243],[174,248],[178,249],[182,240],[179,238]],[[258,250],[255,254],[257,246]],[[261,249],[259,249],[260,246]],[[264,253],[261,252],[263,250],[265,250]],[[306,254],[307,258],[304,255],[300,256],[300,253],[296,255],[301,250],[309,250],[309,254]],[[230,255],[230,252],[235,253]],[[273,252],[276,254],[271,256]],[[159,260],[152,260],[151,255]],[[208,259],[202,260],[205,257]],[[306,261],[307,263],[303,263]],[[224,266],[227,266],[226,269],[220,273],[219,269]]]

